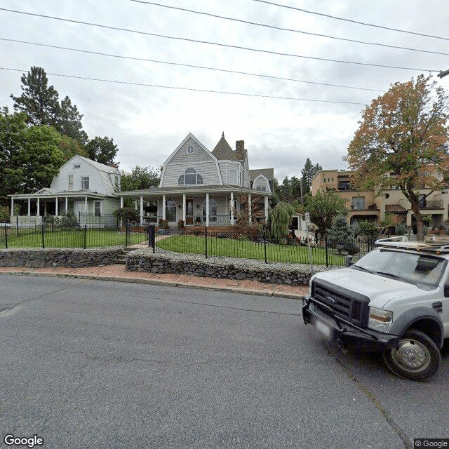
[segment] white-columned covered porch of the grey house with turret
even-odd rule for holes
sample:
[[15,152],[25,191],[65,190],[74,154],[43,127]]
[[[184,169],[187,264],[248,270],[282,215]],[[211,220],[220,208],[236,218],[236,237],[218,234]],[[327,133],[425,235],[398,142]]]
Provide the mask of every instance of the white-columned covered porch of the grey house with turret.
[[140,222],[167,220],[175,227],[180,220],[185,226],[230,226],[239,220],[251,225],[255,221],[267,220],[269,192],[259,192],[241,187],[213,186],[177,189],[149,189],[116,192],[120,207],[125,199],[131,199],[140,211]]

